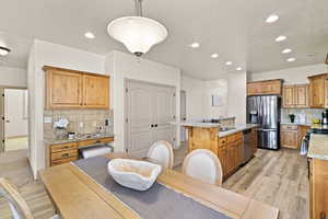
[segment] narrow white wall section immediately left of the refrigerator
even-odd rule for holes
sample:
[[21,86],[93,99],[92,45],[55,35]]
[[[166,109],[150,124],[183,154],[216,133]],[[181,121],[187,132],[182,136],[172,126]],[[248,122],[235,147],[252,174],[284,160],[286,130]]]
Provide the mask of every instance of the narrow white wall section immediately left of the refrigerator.
[[236,123],[246,123],[246,71],[229,73],[227,116],[236,116]]

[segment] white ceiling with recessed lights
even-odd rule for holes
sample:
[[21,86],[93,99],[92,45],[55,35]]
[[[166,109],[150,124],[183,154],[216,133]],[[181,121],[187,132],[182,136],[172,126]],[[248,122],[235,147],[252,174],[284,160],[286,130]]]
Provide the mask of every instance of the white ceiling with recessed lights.
[[[26,67],[33,38],[97,54],[127,51],[106,33],[107,24],[132,15],[133,0],[1,0],[0,44],[12,49],[0,66]],[[251,73],[323,64],[328,51],[327,0],[143,0],[143,14],[168,28],[167,39],[145,58],[178,67],[184,74],[216,79],[237,66]],[[276,13],[280,20],[267,24]],[[84,33],[91,31],[95,39]],[[286,35],[282,43],[278,35]],[[188,45],[199,42],[200,48]],[[292,54],[282,55],[284,48]],[[210,58],[213,53],[218,59]],[[314,56],[308,56],[309,54]],[[289,57],[296,61],[286,62]],[[226,67],[231,60],[233,66]]]

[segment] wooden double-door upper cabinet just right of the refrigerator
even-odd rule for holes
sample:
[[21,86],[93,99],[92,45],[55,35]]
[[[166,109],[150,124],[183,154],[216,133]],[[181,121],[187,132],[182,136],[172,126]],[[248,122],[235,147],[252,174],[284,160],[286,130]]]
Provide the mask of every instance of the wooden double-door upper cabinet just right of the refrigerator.
[[285,108],[308,107],[308,84],[283,85],[282,107]]

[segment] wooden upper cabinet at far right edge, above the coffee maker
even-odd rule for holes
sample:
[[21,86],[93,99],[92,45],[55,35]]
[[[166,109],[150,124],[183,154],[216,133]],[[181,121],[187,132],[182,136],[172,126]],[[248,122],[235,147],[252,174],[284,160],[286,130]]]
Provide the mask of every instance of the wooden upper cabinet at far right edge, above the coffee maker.
[[308,77],[309,80],[309,106],[313,108],[328,107],[327,74]]

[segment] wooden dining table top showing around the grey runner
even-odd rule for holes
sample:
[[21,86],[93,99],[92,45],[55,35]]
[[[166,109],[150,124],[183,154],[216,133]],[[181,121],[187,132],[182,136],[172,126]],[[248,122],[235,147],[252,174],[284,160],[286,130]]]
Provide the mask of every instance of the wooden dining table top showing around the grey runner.
[[[114,153],[106,157],[126,158],[126,154]],[[116,196],[70,163],[42,171],[40,178],[62,218],[140,218]],[[173,170],[164,170],[157,182],[234,219],[278,218],[277,208]]]

